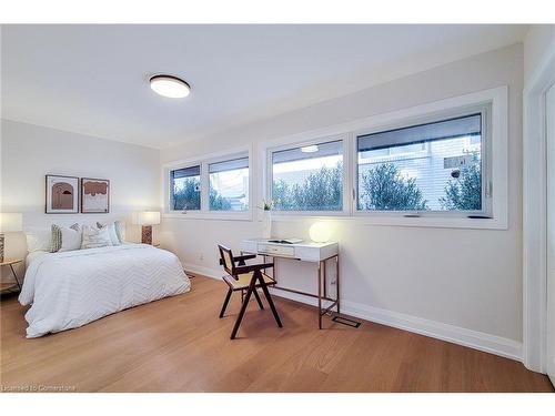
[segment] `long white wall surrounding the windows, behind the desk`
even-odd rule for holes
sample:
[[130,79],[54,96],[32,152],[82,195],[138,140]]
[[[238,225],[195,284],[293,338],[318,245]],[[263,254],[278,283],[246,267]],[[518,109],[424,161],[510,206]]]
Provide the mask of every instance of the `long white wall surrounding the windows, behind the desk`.
[[[522,89],[523,48],[513,45],[161,151],[169,162],[240,144],[324,128],[468,92],[508,85],[508,230],[370,226],[332,221],[342,255],[342,298],[351,313],[519,356],[522,342]],[[255,163],[260,163],[256,160]],[[260,194],[258,195],[260,197]],[[259,201],[255,201],[259,202]],[[307,239],[314,220],[274,223],[279,236]],[[218,242],[238,248],[261,224],[165,219],[161,240],[190,267],[218,273]],[[285,262],[282,262],[285,263]],[[280,264],[287,284],[313,283]],[[306,266],[307,267],[307,266]],[[310,282],[310,283],[309,283]],[[380,315],[381,316],[381,315]],[[395,323],[401,319],[404,323]],[[412,323],[412,324],[411,324]],[[412,325],[412,326],[411,326]],[[466,331],[470,329],[470,331]],[[477,332],[477,333],[475,333]],[[481,344],[482,343],[482,344]],[[472,345],[472,342],[467,344]]]

